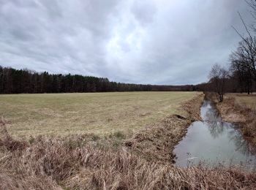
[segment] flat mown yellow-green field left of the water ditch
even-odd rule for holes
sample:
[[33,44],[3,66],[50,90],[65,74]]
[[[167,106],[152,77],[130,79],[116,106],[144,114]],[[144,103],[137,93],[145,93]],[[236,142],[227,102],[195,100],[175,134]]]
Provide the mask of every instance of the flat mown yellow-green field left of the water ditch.
[[160,121],[196,92],[114,92],[0,95],[0,115],[14,137],[121,132]]

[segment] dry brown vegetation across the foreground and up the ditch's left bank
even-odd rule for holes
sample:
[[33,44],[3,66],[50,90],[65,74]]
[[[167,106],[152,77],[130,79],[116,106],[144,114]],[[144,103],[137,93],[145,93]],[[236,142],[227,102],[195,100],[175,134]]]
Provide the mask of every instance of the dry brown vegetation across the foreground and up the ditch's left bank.
[[[253,172],[170,164],[174,145],[198,119],[202,97],[184,104],[184,115],[148,126],[116,148],[110,148],[113,140],[93,134],[17,141],[2,120],[0,189],[256,189]],[[117,132],[110,138],[124,136]]]

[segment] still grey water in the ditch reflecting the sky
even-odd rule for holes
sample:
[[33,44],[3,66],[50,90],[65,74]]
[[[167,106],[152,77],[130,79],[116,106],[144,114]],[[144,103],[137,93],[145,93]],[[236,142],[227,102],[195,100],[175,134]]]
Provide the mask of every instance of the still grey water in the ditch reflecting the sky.
[[174,153],[177,165],[187,167],[201,161],[212,166],[236,164],[246,169],[255,168],[255,153],[244,140],[238,126],[222,122],[208,100],[201,107],[201,118],[203,121],[192,123],[187,136],[176,145]]

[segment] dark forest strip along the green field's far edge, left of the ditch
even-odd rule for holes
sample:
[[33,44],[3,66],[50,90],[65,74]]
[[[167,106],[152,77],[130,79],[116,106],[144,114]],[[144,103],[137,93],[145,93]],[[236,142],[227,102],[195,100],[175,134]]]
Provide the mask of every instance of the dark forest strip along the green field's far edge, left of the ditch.
[[108,78],[49,74],[0,66],[0,94],[110,91],[195,91],[195,86],[159,86],[110,82]]

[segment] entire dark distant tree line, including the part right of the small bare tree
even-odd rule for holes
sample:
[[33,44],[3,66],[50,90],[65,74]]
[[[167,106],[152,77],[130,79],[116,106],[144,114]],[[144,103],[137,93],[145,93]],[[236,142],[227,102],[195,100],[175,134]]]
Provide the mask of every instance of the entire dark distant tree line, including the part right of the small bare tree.
[[[238,72],[226,75],[225,92],[256,91],[255,80],[241,78]],[[247,76],[247,75],[246,75]],[[223,82],[224,85],[224,82]],[[110,91],[214,91],[214,81],[184,86],[143,85],[110,82],[105,77],[83,75],[49,74],[34,72],[29,69],[13,69],[0,65],[0,94],[39,94],[39,93],[73,93],[73,92],[110,92]]]

